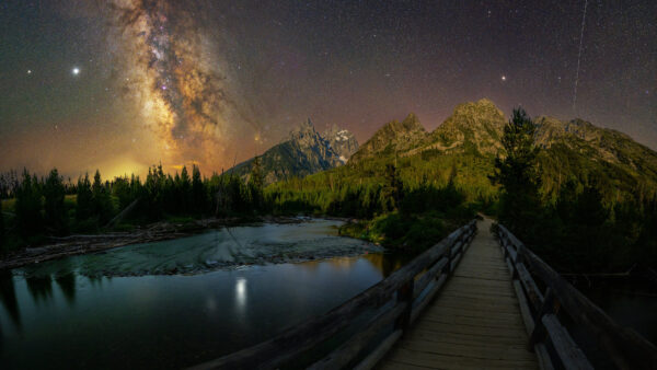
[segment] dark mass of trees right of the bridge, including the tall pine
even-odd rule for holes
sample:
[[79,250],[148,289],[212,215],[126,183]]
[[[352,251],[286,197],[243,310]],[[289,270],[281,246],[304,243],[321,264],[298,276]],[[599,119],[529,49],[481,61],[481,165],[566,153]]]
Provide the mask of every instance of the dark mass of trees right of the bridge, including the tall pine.
[[[574,174],[546,196],[533,146],[535,126],[514,111],[492,181],[502,185],[498,219],[549,264],[565,273],[619,273],[657,266],[657,198],[639,188],[606,196],[609,180]],[[653,196],[648,196],[653,194]]]

